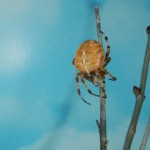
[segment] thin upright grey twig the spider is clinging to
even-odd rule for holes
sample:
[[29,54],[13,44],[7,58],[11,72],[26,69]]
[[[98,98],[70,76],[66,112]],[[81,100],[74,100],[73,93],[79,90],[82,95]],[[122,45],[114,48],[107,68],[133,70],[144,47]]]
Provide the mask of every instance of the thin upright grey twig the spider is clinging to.
[[[95,7],[95,17],[97,26],[98,42],[102,45],[101,22],[98,6]],[[100,123],[96,120],[99,136],[100,136],[100,150],[107,150],[107,135],[106,135],[106,95],[105,93],[105,76],[100,78]]]

